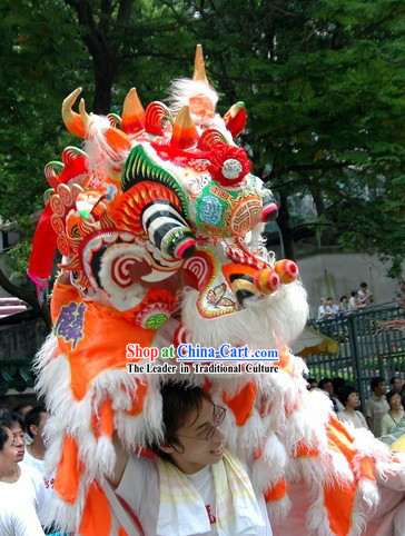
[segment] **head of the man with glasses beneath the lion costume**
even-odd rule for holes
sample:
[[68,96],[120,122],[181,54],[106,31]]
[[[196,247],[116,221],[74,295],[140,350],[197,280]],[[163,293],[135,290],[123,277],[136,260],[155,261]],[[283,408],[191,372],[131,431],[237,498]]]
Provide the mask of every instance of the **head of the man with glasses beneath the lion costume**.
[[186,474],[218,463],[225,453],[225,435],[219,427],[225,409],[215,406],[201,388],[185,383],[170,381],[160,391],[165,438],[152,445],[152,450]]

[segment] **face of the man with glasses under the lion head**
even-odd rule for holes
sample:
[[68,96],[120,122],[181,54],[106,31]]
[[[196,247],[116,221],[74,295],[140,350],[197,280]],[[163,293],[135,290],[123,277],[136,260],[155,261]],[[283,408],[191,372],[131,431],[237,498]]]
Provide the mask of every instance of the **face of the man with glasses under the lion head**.
[[219,426],[216,427],[220,415],[221,409],[218,406],[202,398],[199,415],[197,409],[190,411],[184,426],[176,433],[180,445],[175,444],[176,448],[160,447],[170,454],[172,461],[182,473],[197,473],[207,465],[217,464],[224,456],[225,435]]

